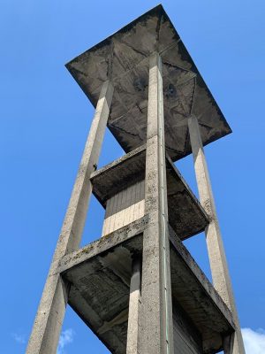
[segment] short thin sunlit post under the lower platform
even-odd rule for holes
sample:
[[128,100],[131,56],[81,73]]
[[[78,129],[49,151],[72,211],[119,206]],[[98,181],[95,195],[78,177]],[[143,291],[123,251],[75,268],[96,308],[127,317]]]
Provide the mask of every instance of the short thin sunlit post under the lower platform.
[[133,273],[130,286],[129,316],[126,354],[138,354],[140,312],[140,258],[133,259]]

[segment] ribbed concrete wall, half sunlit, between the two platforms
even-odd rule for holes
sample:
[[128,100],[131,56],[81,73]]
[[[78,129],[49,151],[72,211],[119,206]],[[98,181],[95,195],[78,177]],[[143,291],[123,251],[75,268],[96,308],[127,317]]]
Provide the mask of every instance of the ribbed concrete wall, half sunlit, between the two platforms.
[[140,219],[144,215],[144,197],[144,181],[140,181],[112,196],[107,202],[102,236]]

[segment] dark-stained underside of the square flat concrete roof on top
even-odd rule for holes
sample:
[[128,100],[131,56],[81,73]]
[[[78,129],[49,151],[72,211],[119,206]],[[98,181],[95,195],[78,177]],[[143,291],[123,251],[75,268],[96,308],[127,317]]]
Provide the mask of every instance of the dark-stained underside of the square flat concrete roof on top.
[[66,64],[95,106],[102,82],[111,80],[114,96],[108,127],[125,152],[146,142],[148,60],[163,61],[165,140],[173,161],[191,153],[187,117],[199,119],[203,144],[231,133],[214,97],[193,63],[162,5]]

